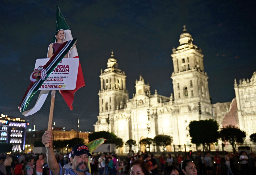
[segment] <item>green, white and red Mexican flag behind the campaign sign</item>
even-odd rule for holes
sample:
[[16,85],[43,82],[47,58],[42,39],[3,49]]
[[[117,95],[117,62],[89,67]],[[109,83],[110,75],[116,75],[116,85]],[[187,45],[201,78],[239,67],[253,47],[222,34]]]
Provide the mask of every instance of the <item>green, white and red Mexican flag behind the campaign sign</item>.
[[[65,18],[62,16],[60,8],[57,6],[56,32],[60,29],[65,31],[65,39],[64,39],[63,42],[73,39],[72,34],[71,34],[71,30],[70,30],[68,24],[66,23]],[[53,42],[55,43],[55,36],[54,36],[54,41]],[[79,58],[78,53],[77,53],[76,45],[73,45],[73,47],[70,49],[69,58]],[[80,64],[80,61],[79,61],[76,89],[74,89],[74,90],[59,90],[60,94],[64,98],[64,100],[67,103],[70,110],[73,109],[72,103],[74,101],[75,92],[80,87],[83,87],[83,86],[85,86],[85,83],[84,83],[84,78],[83,78],[82,67],[81,67],[81,64]]]

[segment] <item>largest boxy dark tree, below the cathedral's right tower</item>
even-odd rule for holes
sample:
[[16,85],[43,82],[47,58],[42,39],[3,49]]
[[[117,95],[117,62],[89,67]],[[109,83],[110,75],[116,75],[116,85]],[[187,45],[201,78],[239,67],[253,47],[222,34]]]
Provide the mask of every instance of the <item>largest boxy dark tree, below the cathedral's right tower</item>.
[[210,150],[210,143],[217,142],[219,138],[219,125],[216,120],[190,121],[188,127],[191,143],[202,144],[205,150]]

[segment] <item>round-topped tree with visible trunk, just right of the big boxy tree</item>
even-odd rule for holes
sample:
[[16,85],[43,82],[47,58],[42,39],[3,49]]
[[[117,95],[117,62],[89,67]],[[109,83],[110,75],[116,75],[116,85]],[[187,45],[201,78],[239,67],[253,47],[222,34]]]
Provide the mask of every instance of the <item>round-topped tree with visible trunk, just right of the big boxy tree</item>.
[[232,125],[222,128],[220,131],[221,140],[229,142],[234,153],[236,152],[236,145],[243,144],[245,137],[246,132],[241,131],[239,128]]

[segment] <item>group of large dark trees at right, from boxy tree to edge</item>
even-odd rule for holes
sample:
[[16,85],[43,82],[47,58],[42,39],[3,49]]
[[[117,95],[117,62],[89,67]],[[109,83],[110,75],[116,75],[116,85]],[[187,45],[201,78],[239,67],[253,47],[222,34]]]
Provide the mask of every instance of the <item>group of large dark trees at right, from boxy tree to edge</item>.
[[[197,146],[202,144],[205,150],[210,150],[210,143],[217,142],[220,139],[222,142],[229,142],[233,152],[236,150],[236,145],[243,144],[246,138],[245,131],[241,131],[232,125],[219,131],[217,121],[212,119],[191,121],[189,123],[189,134],[191,143],[195,143]],[[250,135],[250,140],[256,143],[256,133]],[[222,149],[224,145],[222,144]]]

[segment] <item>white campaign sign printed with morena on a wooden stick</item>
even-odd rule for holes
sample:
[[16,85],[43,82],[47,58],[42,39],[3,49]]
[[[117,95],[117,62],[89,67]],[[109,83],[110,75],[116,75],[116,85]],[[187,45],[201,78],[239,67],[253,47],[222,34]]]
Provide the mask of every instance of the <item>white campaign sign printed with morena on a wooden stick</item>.
[[[36,60],[35,69],[44,66],[50,58],[39,58]],[[58,66],[44,81],[39,90],[74,90],[76,89],[79,58],[63,58]]]

